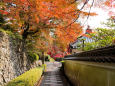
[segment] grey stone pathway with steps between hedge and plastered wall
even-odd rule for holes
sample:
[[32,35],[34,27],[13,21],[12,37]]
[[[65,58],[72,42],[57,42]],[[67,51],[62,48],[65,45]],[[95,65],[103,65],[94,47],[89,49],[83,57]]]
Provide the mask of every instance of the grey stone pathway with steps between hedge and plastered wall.
[[45,72],[40,86],[70,86],[60,71],[61,63],[47,62],[46,64],[47,72]]

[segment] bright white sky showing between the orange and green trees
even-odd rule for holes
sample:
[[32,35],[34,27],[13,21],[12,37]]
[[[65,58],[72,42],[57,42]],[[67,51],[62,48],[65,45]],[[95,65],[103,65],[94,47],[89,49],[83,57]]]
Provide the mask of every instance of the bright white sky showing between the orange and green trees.
[[[90,4],[92,3],[91,0],[89,2]],[[83,4],[79,5],[78,8],[81,8]],[[113,2],[113,5],[115,5],[115,1]],[[83,11],[88,12],[89,9],[85,8]],[[115,16],[115,8],[114,7],[105,7],[103,6],[102,8],[99,7],[92,7],[91,12],[95,12],[97,15],[96,16],[90,16],[88,20],[86,18],[80,18],[80,21],[82,25],[84,25],[84,29],[87,28],[87,25],[90,25],[91,29],[95,29],[97,27],[106,27],[104,24],[107,22],[107,19],[110,18],[110,16]],[[87,21],[86,21],[87,20]]]

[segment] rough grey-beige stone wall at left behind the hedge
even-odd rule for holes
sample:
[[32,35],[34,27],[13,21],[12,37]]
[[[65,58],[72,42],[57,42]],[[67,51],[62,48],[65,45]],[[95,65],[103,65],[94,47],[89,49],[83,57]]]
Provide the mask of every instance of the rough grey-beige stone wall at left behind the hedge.
[[27,59],[24,61],[20,43],[19,39],[0,31],[0,86],[38,65]]

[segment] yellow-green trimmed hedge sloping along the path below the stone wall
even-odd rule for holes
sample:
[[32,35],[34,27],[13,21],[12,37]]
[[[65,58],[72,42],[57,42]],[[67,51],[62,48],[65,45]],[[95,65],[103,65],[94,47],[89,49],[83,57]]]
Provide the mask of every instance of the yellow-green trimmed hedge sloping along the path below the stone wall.
[[6,86],[34,86],[43,73],[42,67],[31,69],[10,81]]

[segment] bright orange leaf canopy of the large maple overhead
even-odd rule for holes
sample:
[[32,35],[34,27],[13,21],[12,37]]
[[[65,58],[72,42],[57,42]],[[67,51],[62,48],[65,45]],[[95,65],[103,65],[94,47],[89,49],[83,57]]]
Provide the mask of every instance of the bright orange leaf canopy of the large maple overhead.
[[[49,27],[55,28],[55,34],[66,48],[67,45],[82,33],[82,27],[74,20],[78,17],[79,13],[84,16],[88,15],[87,12],[79,11],[77,4],[70,4],[74,0],[5,0],[12,2],[16,7],[10,7],[10,15],[12,18],[21,21],[18,25],[29,22],[29,30],[36,30],[39,28],[46,34],[44,37],[48,39]],[[83,0],[84,1],[84,0]],[[90,14],[92,16],[95,13]],[[73,22],[73,23],[72,23]],[[20,24],[21,23],[21,24]],[[45,29],[45,31],[44,31]],[[23,32],[23,31],[21,31]],[[43,34],[42,34],[43,35]],[[40,41],[40,40],[39,40]],[[42,42],[42,41],[41,41]],[[41,45],[42,46],[42,45]]]

